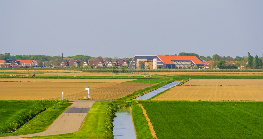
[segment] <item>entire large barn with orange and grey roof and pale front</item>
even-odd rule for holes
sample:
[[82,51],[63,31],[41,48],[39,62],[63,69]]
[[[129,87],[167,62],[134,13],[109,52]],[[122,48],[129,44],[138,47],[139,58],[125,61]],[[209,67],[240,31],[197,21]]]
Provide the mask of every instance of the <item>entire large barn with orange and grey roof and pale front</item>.
[[204,66],[196,56],[169,55],[135,55],[130,62],[134,69],[186,68],[189,66]]

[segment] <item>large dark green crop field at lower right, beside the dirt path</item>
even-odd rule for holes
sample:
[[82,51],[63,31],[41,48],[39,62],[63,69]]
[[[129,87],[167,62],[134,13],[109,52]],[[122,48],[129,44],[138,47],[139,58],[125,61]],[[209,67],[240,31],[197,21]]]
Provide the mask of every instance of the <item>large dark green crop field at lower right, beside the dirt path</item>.
[[139,101],[158,139],[262,138],[262,101]]

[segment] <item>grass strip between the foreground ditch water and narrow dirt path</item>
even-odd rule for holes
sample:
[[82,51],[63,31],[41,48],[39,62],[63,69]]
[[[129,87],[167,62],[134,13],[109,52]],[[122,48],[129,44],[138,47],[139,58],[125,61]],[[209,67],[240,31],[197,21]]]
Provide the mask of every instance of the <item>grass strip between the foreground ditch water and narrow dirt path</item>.
[[135,126],[137,139],[154,139],[149,129],[148,122],[143,115],[143,110],[139,105],[131,107],[132,120]]

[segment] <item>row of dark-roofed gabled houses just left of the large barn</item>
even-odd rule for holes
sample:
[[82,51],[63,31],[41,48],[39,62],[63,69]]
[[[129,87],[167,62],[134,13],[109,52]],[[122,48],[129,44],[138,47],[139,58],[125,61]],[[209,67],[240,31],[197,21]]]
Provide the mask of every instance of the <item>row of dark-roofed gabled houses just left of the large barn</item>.
[[113,67],[113,66],[128,66],[128,62],[126,60],[119,60],[119,61],[111,61],[111,60],[63,60],[60,63],[61,67],[67,66],[93,66],[93,67]]

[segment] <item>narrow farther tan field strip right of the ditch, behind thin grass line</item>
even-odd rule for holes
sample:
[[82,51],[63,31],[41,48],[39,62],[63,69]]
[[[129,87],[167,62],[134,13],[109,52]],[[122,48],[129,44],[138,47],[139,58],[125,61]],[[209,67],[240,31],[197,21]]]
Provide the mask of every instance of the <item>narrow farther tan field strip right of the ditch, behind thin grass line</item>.
[[[1,80],[0,80],[1,81]],[[262,79],[192,79],[187,81],[185,85],[198,86],[263,86]]]

